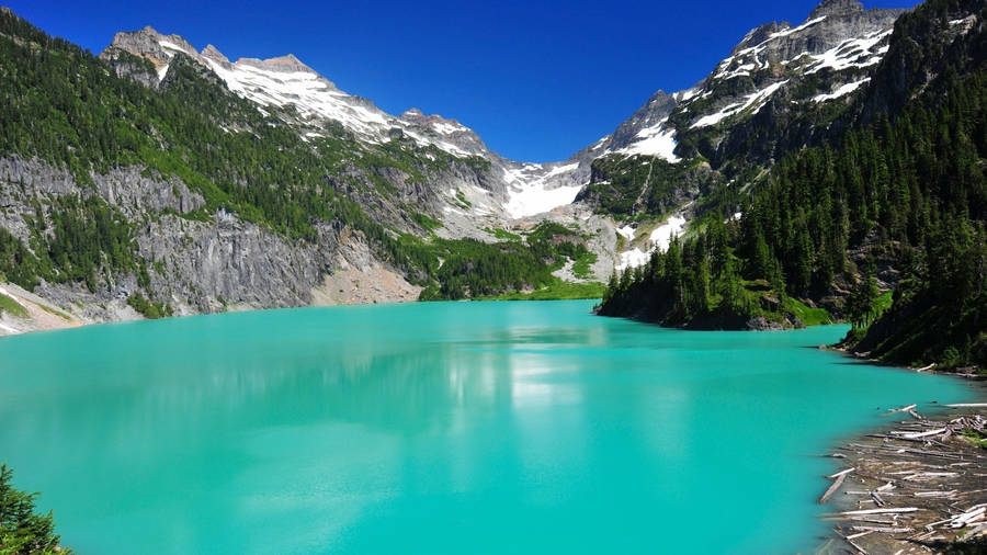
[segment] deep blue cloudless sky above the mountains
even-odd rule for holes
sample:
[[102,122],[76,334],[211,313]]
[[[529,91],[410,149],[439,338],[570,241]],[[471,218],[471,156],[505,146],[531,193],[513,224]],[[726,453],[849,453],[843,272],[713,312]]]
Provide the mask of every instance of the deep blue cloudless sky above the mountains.
[[[287,53],[387,112],[460,120],[509,158],[560,160],[658,89],[705,77],[745,33],[816,0],[483,2],[0,0],[94,53],[151,25],[228,58]],[[908,0],[864,1],[903,8]]]

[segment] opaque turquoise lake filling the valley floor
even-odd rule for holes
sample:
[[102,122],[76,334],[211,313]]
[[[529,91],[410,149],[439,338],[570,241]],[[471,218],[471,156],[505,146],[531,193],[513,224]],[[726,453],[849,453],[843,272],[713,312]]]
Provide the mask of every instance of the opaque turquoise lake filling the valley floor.
[[[592,302],[304,308],[0,340],[0,461],[77,553],[793,553],[831,452],[963,383]],[[831,508],[828,510],[832,510]]]

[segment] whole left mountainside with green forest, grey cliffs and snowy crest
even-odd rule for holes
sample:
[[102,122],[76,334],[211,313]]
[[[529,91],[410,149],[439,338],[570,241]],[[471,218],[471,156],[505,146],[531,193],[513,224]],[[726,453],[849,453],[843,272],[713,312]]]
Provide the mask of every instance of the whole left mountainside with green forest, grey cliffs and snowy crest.
[[[589,257],[494,234],[564,171],[387,116],[293,57],[229,64],[145,30],[98,59],[4,10],[0,72],[0,281],[67,322],[498,294]],[[480,259],[511,271],[454,263]],[[16,313],[5,331],[36,324]]]

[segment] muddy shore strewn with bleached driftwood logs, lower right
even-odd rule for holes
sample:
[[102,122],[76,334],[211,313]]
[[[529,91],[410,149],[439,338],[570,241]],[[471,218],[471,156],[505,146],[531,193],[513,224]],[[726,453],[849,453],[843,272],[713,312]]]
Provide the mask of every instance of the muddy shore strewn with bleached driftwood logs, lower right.
[[824,455],[840,463],[820,485],[818,502],[830,509],[820,518],[830,525],[814,553],[987,551],[987,443],[968,439],[987,437],[987,376],[938,374],[964,378],[976,400],[890,409],[883,426]]

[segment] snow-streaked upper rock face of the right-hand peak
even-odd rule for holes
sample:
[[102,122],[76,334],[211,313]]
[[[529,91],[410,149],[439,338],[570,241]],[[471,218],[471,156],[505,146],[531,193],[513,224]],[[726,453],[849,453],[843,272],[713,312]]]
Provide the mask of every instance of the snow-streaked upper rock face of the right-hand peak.
[[770,166],[829,132],[837,111],[827,106],[867,83],[904,12],[827,0],[797,26],[753,29],[708,77],[687,91],[658,91],[594,154],[702,157],[727,179]]

